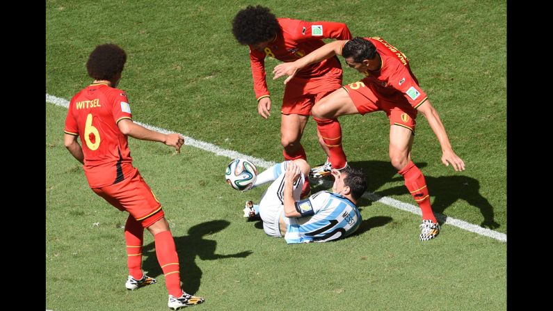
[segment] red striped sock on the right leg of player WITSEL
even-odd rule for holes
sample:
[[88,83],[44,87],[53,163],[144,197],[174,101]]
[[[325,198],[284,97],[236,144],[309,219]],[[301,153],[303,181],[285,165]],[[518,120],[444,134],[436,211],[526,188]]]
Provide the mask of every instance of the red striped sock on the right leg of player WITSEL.
[[154,235],[156,244],[157,262],[165,275],[167,291],[173,297],[182,296],[180,287],[179,255],[175,248],[175,240],[170,231],[159,232]]

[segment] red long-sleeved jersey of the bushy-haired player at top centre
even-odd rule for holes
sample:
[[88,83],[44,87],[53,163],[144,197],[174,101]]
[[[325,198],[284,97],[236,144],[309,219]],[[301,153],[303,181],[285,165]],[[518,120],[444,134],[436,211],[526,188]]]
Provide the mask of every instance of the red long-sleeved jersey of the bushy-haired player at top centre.
[[[278,18],[277,20],[282,32],[276,35],[273,42],[271,42],[264,51],[257,51],[250,46],[250,65],[253,74],[253,88],[257,99],[269,95],[267,82],[265,80],[266,56],[276,58],[284,63],[289,63],[325,45],[325,42],[322,40],[323,38],[335,38],[338,40],[351,39],[348,26],[343,23],[305,22],[289,18]],[[321,77],[332,68],[339,68],[342,70],[340,62],[335,57],[303,68],[296,74],[296,77],[303,79]]]

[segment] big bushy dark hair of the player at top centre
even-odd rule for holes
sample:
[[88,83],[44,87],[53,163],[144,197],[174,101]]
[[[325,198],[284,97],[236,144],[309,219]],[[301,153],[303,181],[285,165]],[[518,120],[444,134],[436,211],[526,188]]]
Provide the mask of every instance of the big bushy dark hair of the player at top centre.
[[280,25],[271,9],[248,6],[239,10],[232,20],[232,34],[241,45],[256,45],[275,38]]

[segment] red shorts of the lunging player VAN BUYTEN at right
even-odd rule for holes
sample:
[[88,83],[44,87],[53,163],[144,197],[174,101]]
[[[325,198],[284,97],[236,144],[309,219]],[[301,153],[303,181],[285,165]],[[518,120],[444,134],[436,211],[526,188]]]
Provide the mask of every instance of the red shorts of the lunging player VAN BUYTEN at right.
[[413,108],[405,97],[384,97],[360,82],[343,86],[360,114],[384,111],[390,119],[390,125],[406,127],[415,134],[417,109]]

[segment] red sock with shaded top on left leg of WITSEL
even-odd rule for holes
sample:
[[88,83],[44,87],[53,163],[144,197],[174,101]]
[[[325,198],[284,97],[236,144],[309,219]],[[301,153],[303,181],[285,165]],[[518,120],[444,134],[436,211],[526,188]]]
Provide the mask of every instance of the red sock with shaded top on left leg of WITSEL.
[[129,276],[135,280],[143,277],[142,273],[142,245],[144,241],[144,228],[142,224],[129,215],[125,224],[125,243],[127,244],[127,266]]

